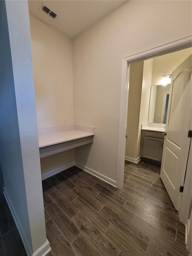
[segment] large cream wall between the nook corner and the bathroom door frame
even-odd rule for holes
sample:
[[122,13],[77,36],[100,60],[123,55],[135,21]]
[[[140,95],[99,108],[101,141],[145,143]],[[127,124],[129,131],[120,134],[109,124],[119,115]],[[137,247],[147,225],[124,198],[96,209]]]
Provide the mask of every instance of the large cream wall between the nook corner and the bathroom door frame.
[[78,162],[116,180],[122,58],[190,36],[191,20],[190,1],[128,1],[74,40],[74,120],[95,127]]

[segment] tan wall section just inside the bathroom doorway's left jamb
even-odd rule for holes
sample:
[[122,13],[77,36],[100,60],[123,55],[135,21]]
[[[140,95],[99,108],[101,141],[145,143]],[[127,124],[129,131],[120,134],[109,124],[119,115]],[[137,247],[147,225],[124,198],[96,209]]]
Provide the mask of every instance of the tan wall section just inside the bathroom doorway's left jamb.
[[143,81],[143,64],[137,62],[130,65],[127,139],[125,146],[125,160],[137,161],[137,141],[140,118],[141,90]]

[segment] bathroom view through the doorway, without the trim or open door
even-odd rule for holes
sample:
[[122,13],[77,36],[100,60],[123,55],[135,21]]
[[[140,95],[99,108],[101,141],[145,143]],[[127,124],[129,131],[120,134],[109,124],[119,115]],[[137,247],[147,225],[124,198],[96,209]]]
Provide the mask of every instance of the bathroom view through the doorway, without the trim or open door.
[[187,48],[130,64],[125,161],[147,163],[160,173],[171,84],[171,74],[164,84],[162,74],[172,73],[190,54]]

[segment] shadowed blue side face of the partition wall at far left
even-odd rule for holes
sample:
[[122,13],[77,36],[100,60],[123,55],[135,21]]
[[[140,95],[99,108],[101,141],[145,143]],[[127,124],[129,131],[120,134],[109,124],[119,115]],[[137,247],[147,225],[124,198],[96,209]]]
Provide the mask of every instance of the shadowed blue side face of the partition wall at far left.
[[31,243],[5,2],[0,1],[0,6],[1,165],[5,188]]

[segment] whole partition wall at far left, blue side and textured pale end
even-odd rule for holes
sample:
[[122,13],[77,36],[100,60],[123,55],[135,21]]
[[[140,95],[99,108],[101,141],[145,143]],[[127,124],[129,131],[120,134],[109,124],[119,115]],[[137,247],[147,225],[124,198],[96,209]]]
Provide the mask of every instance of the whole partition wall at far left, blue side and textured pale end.
[[[0,10],[0,145],[4,191],[27,253],[32,255],[45,245],[46,230],[28,3],[0,1]],[[49,243],[46,245],[49,248]]]

